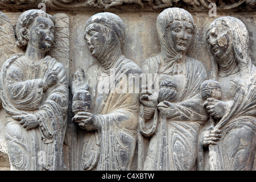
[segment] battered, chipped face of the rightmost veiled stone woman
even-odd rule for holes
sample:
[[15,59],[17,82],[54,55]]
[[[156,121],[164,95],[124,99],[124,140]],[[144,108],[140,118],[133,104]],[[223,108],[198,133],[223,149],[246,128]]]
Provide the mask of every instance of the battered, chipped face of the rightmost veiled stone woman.
[[217,59],[224,57],[232,46],[230,43],[230,36],[230,28],[226,27],[220,21],[217,21],[208,31],[207,43],[210,47],[212,55]]

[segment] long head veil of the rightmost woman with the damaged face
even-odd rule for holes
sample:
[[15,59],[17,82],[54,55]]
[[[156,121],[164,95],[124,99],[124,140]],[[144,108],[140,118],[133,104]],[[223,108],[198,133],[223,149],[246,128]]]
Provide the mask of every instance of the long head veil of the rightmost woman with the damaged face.
[[[241,20],[232,16],[216,18],[208,27],[207,34],[210,30],[212,30],[213,27],[216,26],[217,22],[221,22],[222,27],[228,27],[231,33],[229,38],[230,42],[232,43],[231,48],[228,49],[222,59],[230,60],[229,54],[231,51],[233,51],[234,60],[238,63],[240,71],[251,72],[252,69],[255,69],[255,67],[251,62],[251,57],[249,53],[249,36],[245,24],[243,24]],[[208,51],[210,54],[210,59],[212,60],[213,78],[216,78],[218,75],[218,66],[217,61],[214,59],[214,56],[210,51],[210,45],[208,45]],[[234,65],[234,63],[231,61],[229,61],[228,63],[229,65],[227,66],[229,67],[232,67]]]

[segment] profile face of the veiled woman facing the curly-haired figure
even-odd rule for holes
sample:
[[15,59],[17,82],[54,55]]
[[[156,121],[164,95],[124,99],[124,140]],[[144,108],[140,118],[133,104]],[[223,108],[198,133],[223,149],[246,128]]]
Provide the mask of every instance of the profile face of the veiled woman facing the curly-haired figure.
[[97,59],[104,49],[108,37],[100,24],[92,23],[85,28],[84,39],[92,56]]

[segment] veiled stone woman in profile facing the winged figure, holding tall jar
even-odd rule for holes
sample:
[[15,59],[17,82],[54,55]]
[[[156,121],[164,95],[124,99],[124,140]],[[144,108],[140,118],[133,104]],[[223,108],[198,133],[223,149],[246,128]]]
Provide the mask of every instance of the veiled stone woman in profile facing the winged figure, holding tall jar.
[[[134,86],[127,79],[129,73],[141,74],[141,69],[122,55],[124,39],[125,25],[115,14],[99,13],[86,22],[85,40],[98,63],[88,72],[80,69],[73,75],[72,121],[81,127],[79,170],[130,169],[137,140],[139,93],[127,93]],[[117,92],[121,87],[123,91]]]

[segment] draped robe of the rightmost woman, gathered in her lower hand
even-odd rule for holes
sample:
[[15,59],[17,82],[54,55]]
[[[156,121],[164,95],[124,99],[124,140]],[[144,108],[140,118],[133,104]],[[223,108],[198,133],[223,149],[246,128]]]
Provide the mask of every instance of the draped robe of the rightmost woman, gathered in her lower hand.
[[[250,65],[250,64],[249,64]],[[213,146],[217,170],[253,170],[256,150],[256,68],[247,72],[236,84],[233,104],[228,113],[216,122],[221,130],[220,141]],[[228,82],[228,80],[227,80]],[[226,83],[225,83],[226,84]],[[231,92],[231,91],[230,91]],[[223,97],[223,96],[222,96]],[[199,170],[209,170],[209,150],[203,147],[203,133],[209,130],[208,122],[201,130],[199,143]]]

